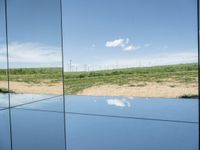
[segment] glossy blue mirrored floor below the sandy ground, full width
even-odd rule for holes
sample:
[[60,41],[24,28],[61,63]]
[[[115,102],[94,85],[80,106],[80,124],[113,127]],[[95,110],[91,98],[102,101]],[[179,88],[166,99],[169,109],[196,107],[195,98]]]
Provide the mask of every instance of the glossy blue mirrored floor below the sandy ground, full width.
[[[65,99],[68,150],[198,149],[197,99]],[[14,149],[63,150],[62,104],[62,96],[58,96],[13,107]],[[4,122],[0,125],[1,133],[9,132],[6,111],[0,111],[0,122]],[[9,150],[6,136],[0,134],[0,149],[4,146]]]

